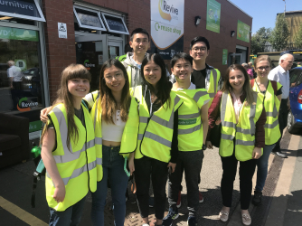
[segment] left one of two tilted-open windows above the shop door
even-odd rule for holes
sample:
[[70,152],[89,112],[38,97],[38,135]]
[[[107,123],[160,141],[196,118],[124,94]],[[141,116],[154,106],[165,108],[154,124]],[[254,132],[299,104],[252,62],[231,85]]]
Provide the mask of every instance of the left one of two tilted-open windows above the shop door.
[[73,5],[73,12],[81,28],[106,31],[98,11],[91,9],[88,10],[80,6]]

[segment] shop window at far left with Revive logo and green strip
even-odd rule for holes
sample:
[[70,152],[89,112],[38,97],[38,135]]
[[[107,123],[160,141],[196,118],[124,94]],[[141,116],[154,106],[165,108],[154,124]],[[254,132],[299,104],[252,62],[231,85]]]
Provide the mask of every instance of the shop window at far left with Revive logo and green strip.
[[39,33],[0,26],[0,52],[0,112],[31,118],[44,107]]

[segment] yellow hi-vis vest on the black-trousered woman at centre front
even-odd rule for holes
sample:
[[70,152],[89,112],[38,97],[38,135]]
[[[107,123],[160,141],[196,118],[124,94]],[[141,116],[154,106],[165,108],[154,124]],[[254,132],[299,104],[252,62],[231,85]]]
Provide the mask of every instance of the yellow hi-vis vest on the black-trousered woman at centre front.
[[171,91],[169,105],[165,102],[150,116],[142,86],[132,89],[131,93],[139,100],[139,130],[135,158],[146,155],[168,163],[171,159],[175,110],[180,107],[183,100]]

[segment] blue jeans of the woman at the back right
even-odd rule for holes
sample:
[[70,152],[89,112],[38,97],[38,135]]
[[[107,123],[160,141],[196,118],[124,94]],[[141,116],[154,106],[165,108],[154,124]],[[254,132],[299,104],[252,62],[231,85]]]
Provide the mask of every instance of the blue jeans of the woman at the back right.
[[268,165],[269,165],[269,155],[272,149],[276,146],[276,144],[271,146],[264,146],[263,155],[260,156],[257,162],[257,183],[255,190],[258,192],[262,192],[265,181],[268,176]]

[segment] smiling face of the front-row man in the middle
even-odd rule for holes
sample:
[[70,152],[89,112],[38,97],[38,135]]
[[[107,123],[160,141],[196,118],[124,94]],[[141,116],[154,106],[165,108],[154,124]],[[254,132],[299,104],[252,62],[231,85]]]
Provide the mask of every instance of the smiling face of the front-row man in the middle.
[[171,68],[171,71],[175,75],[177,81],[190,80],[191,73],[193,72],[193,65],[191,65],[190,61],[179,59],[176,61],[174,67]]

